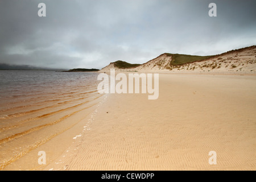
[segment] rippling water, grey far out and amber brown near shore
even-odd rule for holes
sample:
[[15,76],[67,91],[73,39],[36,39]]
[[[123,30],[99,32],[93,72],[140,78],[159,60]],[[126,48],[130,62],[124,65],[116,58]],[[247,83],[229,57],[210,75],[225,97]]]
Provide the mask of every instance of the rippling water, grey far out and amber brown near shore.
[[97,76],[0,71],[0,169],[80,121],[77,113],[102,96]]

